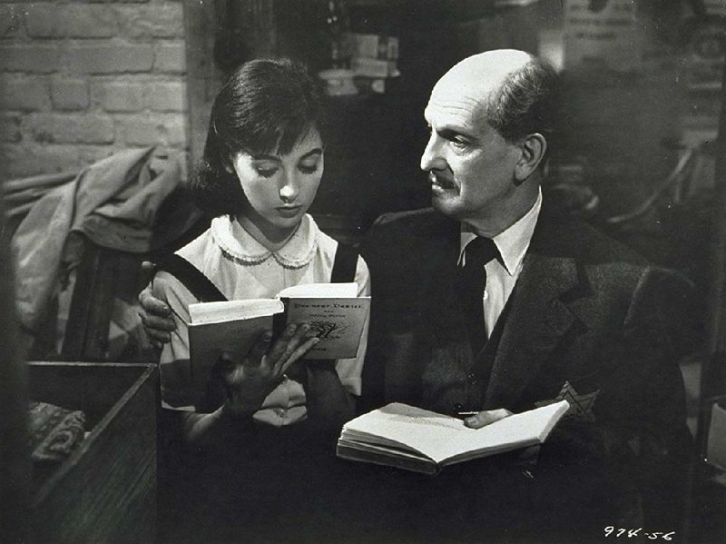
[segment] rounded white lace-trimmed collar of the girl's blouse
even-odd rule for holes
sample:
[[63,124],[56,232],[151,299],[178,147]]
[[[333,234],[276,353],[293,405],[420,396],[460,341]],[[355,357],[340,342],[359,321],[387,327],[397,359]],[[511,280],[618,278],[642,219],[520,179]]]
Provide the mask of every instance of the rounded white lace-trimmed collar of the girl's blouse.
[[302,268],[318,249],[318,232],[318,225],[306,214],[289,241],[271,252],[229,215],[211,220],[212,239],[227,259],[240,264],[260,264],[271,257],[286,268]]

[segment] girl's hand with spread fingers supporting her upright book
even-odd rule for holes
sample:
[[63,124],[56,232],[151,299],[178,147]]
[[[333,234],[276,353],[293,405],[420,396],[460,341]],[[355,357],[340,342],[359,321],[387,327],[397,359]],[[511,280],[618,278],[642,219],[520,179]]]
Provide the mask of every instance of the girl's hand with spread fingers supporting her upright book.
[[249,416],[260,410],[262,402],[274,390],[290,365],[318,343],[310,337],[308,324],[289,324],[280,338],[270,346],[272,332],[260,334],[242,361],[222,356],[221,377],[227,393],[225,410],[233,416]]

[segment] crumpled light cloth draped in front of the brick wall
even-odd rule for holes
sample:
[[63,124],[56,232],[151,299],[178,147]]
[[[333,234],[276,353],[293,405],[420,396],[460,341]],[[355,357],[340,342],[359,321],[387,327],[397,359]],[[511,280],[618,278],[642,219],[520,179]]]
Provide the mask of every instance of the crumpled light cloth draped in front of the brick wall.
[[82,232],[111,249],[144,253],[187,232],[201,212],[179,191],[182,153],[162,148],[115,153],[46,193],[27,213],[11,242],[18,319],[26,331],[41,326],[61,272],[78,255],[69,235]]

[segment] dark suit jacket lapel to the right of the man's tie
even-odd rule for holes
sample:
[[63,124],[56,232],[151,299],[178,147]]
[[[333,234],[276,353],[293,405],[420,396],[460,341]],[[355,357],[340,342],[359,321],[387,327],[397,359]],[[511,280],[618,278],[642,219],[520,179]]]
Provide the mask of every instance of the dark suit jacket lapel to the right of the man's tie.
[[564,293],[578,285],[576,262],[547,251],[546,241],[556,240],[548,230],[538,225],[512,292],[486,391],[486,409],[515,406],[577,319],[563,301]]

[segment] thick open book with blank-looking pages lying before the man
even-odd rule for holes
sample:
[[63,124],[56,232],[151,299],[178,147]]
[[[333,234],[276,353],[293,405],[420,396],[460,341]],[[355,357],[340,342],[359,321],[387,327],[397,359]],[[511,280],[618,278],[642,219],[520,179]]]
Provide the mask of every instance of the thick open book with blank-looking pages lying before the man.
[[436,474],[446,465],[541,444],[569,408],[567,401],[469,429],[464,421],[394,402],[350,420],[338,457]]

